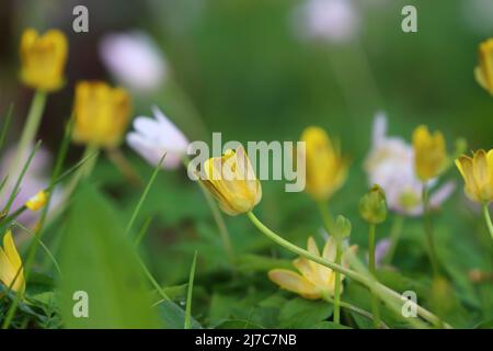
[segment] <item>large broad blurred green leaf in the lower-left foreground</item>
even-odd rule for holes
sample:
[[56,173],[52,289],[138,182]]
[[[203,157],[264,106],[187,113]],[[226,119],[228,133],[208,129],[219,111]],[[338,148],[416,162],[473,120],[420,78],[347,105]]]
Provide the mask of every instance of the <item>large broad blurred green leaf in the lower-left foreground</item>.
[[[81,184],[61,244],[62,320],[68,328],[157,328],[131,244],[110,202]],[[89,296],[89,317],[74,317],[76,292]]]

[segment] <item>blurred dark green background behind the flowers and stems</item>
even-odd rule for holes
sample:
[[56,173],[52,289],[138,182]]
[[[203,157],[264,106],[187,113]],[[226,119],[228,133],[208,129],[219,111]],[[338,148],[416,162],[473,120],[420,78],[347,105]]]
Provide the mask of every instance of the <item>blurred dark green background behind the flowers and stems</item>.
[[[368,186],[363,161],[377,111],[387,113],[391,135],[408,140],[416,125],[427,124],[443,131],[450,151],[458,137],[465,137],[470,149],[492,147],[493,99],[478,86],[472,71],[478,44],[493,36],[493,1],[347,2],[349,10],[341,12],[341,27],[335,29],[342,32],[331,37],[310,36],[303,30],[301,13],[307,1],[3,0],[0,111],[14,102],[10,141],[13,145],[19,135],[32,95],[18,79],[18,47],[25,27],[58,27],[69,36],[67,86],[49,95],[39,132],[51,151],[70,115],[74,82],[102,79],[117,83],[99,50],[103,37],[142,31],[162,52],[167,72],[159,89],[131,90],[133,115],[150,115],[150,106],[157,104],[192,140],[207,141],[211,132],[221,132],[223,140],[297,140],[308,125],[324,127],[341,139],[352,159],[348,181],[331,201],[331,210],[351,218],[352,241],[364,252],[366,225],[359,219],[357,203]],[[72,31],[77,4],[89,9],[89,33]],[[406,4],[417,8],[417,33],[401,30],[401,9]],[[81,151],[72,147],[69,160],[77,160]],[[124,151],[146,180],[152,168],[126,146]],[[439,256],[455,276],[454,290],[466,307],[479,306],[482,299],[491,306],[491,296],[478,297],[467,278],[471,269],[489,269],[491,242],[481,229],[478,208],[462,195],[458,172],[451,169],[445,178],[456,179],[459,186],[435,219]],[[129,184],[104,157],[92,179],[113,197],[126,220],[141,189]],[[263,189],[256,212],[265,223],[302,246],[308,235],[320,233],[317,207],[306,194],[285,193],[284,182],[276,181],[264,181]],[[162,284],[185,282],[193,251],[198,250],[197,288],[203,294],[198,292],[196,298],[220,299],[223,291],[234,290],[221,286],[229,275],[221,273],[227,262],[220,240],[198,186],[184,169],[160,173],[142,208],[141,218],[146,216],[153,219],[142,251]],[[392,215],[379,230],[381,237],[391,223]],[[246,218],[228,217],[227,224],[237,254],[290,257],[274,249]],[[420,219],[405,222],[395,264],[409,276],[426,280],[420,275],[429,272],[422,230]],[[245,258],[242,269],[254,271],[255,261]],[[208,272],[219,283],[210,286]],[[256,279],[276,290],[265,274]]]

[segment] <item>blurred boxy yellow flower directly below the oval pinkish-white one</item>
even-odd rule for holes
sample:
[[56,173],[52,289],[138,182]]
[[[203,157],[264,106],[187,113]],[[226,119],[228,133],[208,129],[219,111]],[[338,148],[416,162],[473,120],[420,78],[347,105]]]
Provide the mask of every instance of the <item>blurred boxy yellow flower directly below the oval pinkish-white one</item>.
[[76,87],[73,140],[99,147],[117,146],[128,125],[130,98],[122,88],[101,81]]

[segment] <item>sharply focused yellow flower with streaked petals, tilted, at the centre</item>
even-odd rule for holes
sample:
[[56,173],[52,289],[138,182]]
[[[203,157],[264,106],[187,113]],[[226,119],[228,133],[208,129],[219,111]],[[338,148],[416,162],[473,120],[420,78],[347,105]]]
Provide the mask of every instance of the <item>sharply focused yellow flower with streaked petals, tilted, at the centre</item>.
[[200,179],[221,210],[231,216],[252,211],[262,199],[261,182],[241,146],[206,160]]

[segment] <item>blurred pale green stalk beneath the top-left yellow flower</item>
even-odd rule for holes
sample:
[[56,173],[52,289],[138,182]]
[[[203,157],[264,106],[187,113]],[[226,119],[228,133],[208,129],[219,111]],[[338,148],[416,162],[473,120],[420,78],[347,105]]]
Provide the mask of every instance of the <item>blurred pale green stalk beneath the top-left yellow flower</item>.
[[[37,90],[34,93],[33,100],[31,102],[30,112],[27,114],[26,122],[24,124],[24,129],[22,131],[21,139],[18,144],[18,150],[12,163],[9,167],[8,174],[14,176],[19,172],[20,162],[24,160],[28,148],[34,144],[34,139],[39,128],[39,123],[43,116],[43,111],[46,104],[46,92]],[[0,191],[0,197],[3,197],[4,193]]]

